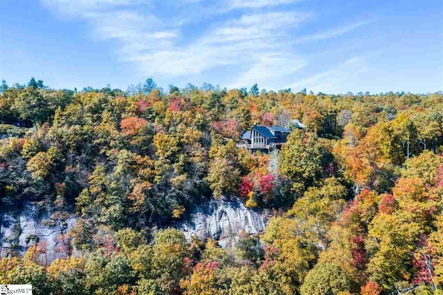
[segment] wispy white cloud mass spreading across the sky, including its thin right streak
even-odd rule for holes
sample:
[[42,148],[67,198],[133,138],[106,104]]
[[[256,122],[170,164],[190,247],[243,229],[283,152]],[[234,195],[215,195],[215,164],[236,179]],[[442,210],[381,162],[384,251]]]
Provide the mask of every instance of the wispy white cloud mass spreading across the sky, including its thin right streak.
[[[86,21],[93,37],[114,39],[120,60],[136,65],[143,76],[171,79],[235,66],[237,73],[227,78],[227,84],[238,87],[257,82],[265,86],[266,81],[308,64],[293,48],[293,30],[313,19],[314,12],[282,9],[297,0],[221,1],[223,17],[208,21],[191,39],[183,33],[183,26],[199,19],[156,13],[161,3],[155,0],[40,1],[63,17]],[[204,7],[204,1],[181,0],[174,5],[185,10],[188,5]],[[302,37],[296,43],[336,37],[366,23]]]

